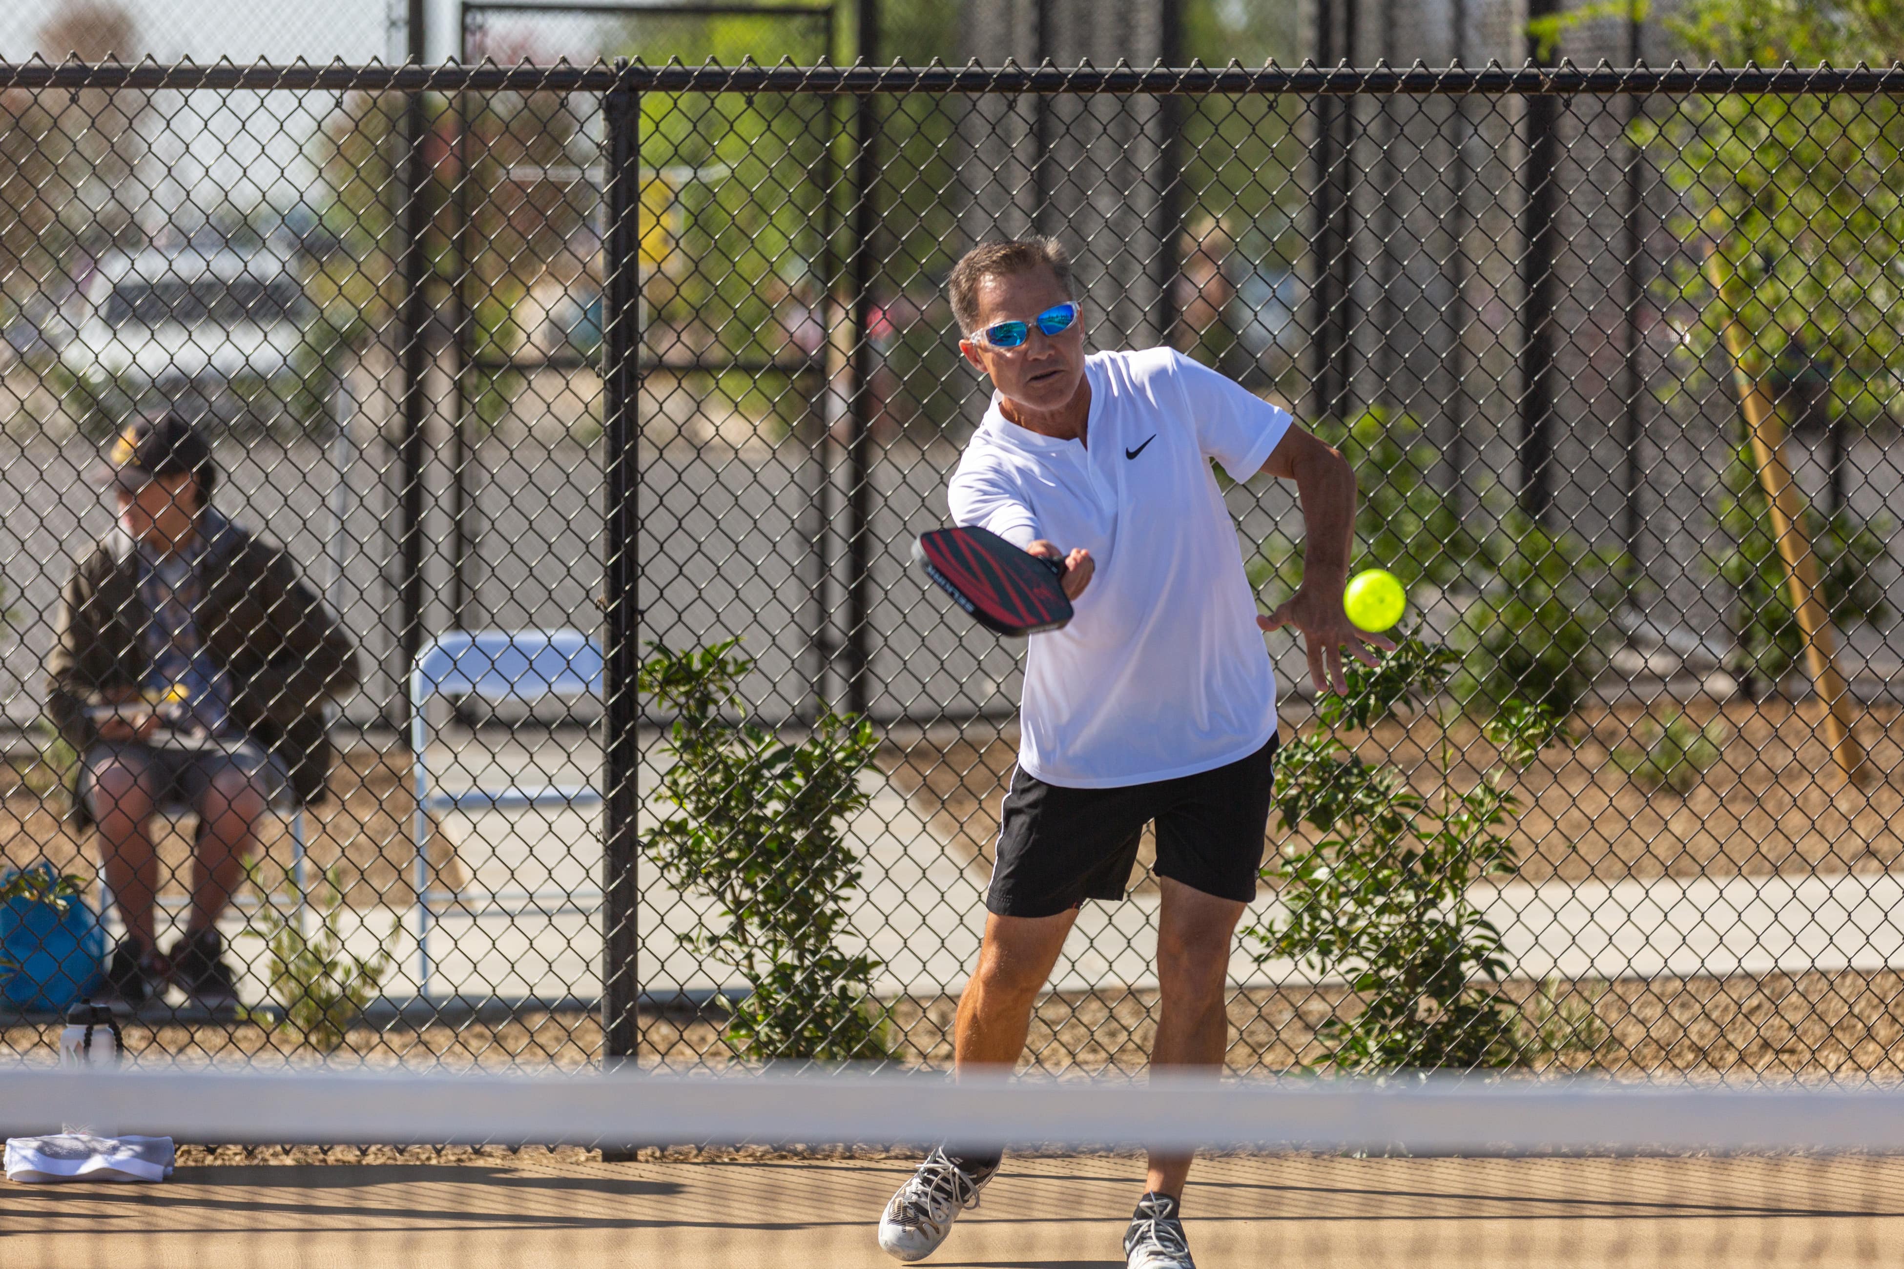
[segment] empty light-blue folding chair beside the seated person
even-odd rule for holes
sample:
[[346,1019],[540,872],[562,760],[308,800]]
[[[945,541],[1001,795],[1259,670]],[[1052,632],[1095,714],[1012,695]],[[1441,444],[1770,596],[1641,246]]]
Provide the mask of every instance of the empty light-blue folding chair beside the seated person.
[[[409,752],[417,788],[413,837],[417,845],[417,995],[430,989],[430,812],[529,810],[602,805],[594,786],[537,784],[432,791],[425,761],[434,727],[432,696],[476,696],[487,704],[602,698],[602,647],[581,630],[451,632],[430,639],[409,672]],[[449,898],[449,896],[444,896]]]

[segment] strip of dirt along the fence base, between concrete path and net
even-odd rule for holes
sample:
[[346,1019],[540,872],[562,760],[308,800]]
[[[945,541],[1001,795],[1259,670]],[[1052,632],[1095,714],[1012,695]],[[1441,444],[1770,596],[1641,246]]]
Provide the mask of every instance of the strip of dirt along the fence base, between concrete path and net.
[[[1531,984],[1510,984],[1529,1020],[1552,1006]],[[1904,1077],[1904,974],[1771,974],[1765,978],[1658,978],[1550,986],[1565,1006],[1550,1022],[1557,1052],[1542,1064],[1615,1075],[1877,1075]],[[950,995],[889,1003],[891,1037],[906,1065],[952,1062]],[[1323,1056],[1316,1029],[1356,1008],[1342,987],[1245,989],[1230,999],[1230,1056],[1238,1073],[1289,1071]],[[1057,993],[1038,1005],[1026,1065],[1047,1071],[1140,1071],[1156,1033],[1156,991]],[[0,1052],[51,1060],[57,1027],[0,1029]],[[133,1054],[268,1065],[308,1060],[299,1035],[255,1024],[129,1027]],[[594,1014],[526,1014],[505,1024],[463,1027],[354,1027],[333,1062],[366,1065],[581,1067],[600,1056]],[[733,1062],[718,1018],[644,1014],[642,1060],[687,1071]]]

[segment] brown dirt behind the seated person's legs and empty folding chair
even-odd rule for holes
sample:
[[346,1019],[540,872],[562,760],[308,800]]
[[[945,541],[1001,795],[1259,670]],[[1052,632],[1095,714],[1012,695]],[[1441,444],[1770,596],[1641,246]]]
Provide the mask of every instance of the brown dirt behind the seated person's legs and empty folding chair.
[[[0,866],[23,866],[51,860],[61,873],[91,877],[95,850],[91,830],[67,814],[65,793],[34,788],[13,769],[0,769],[10,778],[0,797]],[[307,850],[312,883],[322,871],[335,877],[345,904],[373,908],[377,904],[407,906],[415,902],[417,847],[411,839],[411,814],[417,801],[409,782],[406,752],[379,753],[356,748],[343,753],[331,772],[331,797],[305,812]],[[188,833],[196,820],[171,822],[160,839],[162,896],[185,896],[190,885],[192,843]],[[465,869],[457,864],[455,847],[432,822],[428,860],[438,888],[457,888]],[[265,828],[259,881],[284,887],[291,869],[289,822]]]

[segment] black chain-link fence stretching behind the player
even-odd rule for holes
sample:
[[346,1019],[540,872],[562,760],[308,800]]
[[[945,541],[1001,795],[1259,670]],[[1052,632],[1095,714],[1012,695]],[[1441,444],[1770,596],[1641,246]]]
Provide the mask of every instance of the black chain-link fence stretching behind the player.
[[[1036,230],[1409,586],[1346,712],[1270,635],[1232,1065],[1893,1067],[1904,72],[0,86],[15,1052],[80,976],[168,1054],[946,1062],[1022,649],[908,546],[988,400],[944,274]],[[1144,862],[1040,1062],[1142,1060]]]

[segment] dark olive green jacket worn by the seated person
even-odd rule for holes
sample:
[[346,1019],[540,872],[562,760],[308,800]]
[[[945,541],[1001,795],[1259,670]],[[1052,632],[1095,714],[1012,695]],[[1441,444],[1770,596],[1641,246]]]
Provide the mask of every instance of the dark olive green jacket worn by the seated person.
[[[324,706],[358,685],[356,649],[284,548],[221,519],[202,567],[198,632],[230,681],[232,723],[278,755],[299,803],[320,801],[333,761]],[[137,552],[114,531],[74,567],[46,656],[48,713],[78,753],[99,742],[86,706],[145,685],[147,620]]]

